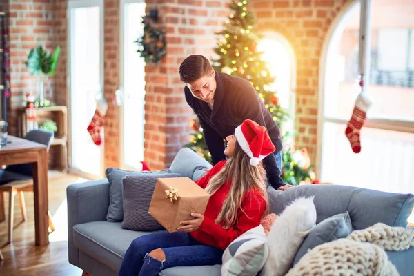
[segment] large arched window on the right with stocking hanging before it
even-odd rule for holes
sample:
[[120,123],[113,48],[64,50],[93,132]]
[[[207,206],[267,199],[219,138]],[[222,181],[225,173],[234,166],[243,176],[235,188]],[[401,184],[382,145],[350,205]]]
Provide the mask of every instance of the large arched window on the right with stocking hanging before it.
[[352,152],[344,134],[360,90],[359,1],[333,23],[322,49],[319,81],[322,181],[414,193],[414,17],[408,5],[372,2],[368,96],[373,105],[361,131],[359,154]]

